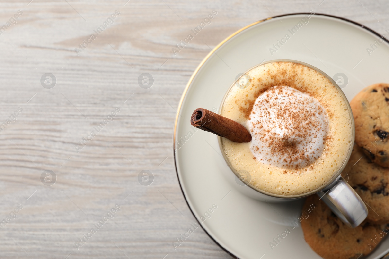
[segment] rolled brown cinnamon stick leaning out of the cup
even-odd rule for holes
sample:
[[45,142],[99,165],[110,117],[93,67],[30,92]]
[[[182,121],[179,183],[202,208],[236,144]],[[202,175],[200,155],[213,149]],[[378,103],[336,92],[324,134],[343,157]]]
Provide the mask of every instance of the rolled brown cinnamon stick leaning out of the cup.
[[251,141],[250,132],[240,123],[204,108],[196,109],[191,116],[192,126],[243,143]]

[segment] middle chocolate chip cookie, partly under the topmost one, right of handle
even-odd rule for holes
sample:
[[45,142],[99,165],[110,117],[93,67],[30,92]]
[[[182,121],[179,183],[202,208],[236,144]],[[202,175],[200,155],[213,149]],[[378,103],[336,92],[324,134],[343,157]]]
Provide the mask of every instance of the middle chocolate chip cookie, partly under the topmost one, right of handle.
[[389,169],[371,162],[370,156],[354,145],[342,176],[366,203],[366,220],[389,223]]

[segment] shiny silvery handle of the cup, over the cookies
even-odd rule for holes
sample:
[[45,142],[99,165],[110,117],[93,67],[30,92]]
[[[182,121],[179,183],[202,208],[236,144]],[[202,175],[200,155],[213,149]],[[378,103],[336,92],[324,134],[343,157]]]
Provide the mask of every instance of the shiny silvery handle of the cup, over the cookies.
[[317,192],[324,203],[346,225],[356,228],[366,219],[368,209],[359,195],[342,176],[338,176],[335,185]]

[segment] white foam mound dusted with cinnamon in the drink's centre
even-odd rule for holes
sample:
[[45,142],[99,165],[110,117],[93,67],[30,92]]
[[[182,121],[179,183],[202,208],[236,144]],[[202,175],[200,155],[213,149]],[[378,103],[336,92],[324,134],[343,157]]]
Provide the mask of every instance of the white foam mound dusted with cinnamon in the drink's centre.
[[328,116],[314,97],[289,86],[274,86],[255,101],[249,116],[250,150],[268,165],[299,169],[324,150]]

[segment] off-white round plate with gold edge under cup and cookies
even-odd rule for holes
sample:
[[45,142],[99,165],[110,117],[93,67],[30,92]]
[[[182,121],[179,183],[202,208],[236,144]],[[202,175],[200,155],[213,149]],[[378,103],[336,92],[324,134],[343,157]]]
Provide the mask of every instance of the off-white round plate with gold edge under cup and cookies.
[[[190,125],[192,112],[198,107],[218,110],[236,76],[266,60],[298,60],[331,77],[336,75],[335,81],[349,100],[367,85],[389,82],[387,42],[376,44],[370,53],[366,50],[380,39],[380,35],[340,17],[315,14],[307,19],[308,23],[299,24],[303,17],[305,14],[269,18],[228,37],[193,73],[179,104],[174,141],[175,165],[182,193],[209,236],[238,258],[321,257],[304,241],[301,226],[291,227],[300,215],[303,200],[266,203],[245,196],[242,188],[249,187],[236,181],[237,177],[224,161],[217,137],[196,131]],[[301,26],[292,34],[291,29],[296,25]],[[275,49],[273,44],[286,34],[289,38]],[[275,51],[271,52],[270,48]],[[180,141],[179,145],[177,141]],[[213,204],[217,209],[205,214]],[[210,217],[202,218],[204,214]],[[272,249],[270,242],[286,228],[291,233]],[[389,239],[366,258],[378,259],[387,252]]]

